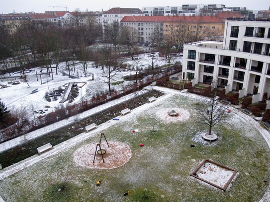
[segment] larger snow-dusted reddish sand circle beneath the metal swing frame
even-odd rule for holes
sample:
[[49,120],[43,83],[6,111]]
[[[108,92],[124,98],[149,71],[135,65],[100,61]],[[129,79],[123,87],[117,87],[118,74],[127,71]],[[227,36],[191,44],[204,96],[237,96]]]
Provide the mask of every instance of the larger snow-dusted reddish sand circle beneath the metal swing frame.
[[[106,153],[103,154],[104,162],[102,161],[102,156],[100,154],[95,155],[94,152],[96,148],[96,142],[86,144],[81,146],[74,152],[74,161],[80,166],[86,168],[99,168],[99,169],[112,169],[124,165],[131,158],[130,147],[122,142],[108,141],[109,146],[106,141],[101,142],[101,149],[105,149]],[[97,147],[99,150],[99,146]]]

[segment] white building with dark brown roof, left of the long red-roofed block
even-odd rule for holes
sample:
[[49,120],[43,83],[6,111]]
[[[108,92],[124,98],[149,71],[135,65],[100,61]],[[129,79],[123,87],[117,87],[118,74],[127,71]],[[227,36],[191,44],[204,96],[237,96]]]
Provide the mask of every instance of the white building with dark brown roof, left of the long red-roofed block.
[[143,16],[143,11],[139,8],[111,8],[108,11],[102,13],[102,28],[107,25],[112,25],[113,22],[121,22],[124,16]]

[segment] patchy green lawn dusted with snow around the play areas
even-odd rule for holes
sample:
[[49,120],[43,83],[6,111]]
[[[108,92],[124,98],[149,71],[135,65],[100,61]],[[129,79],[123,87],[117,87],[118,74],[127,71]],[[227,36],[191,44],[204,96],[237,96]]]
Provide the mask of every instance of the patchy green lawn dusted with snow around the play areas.
[[[253,124],[243,118],[245,115],[238,115],[232,110],[226,123],[213,128],[221,137],[216,144],[207,146],[193,141],[196,134],[207,130],[207,127],[198,124],[198,117],[195,116],[194,108],[200,101],[200,96],[192,94],[190,97],[165,95],[132,110],[118,122],[102,124],[90,135],[83,134],[80,139],[75,137],[74,141],[70,139],[67,148],[55,147],[54,155],[1,180],[1,197],[5,201],[56,201],[49,190],[60,182],[59,169],[62,169],[66,172],[61,172],[61,176],[70,175],[68,182],[73,188],[63,192],[63,196],[68,196],[72,202],[139,201],[144,189],[155,202],[201,199],[259,201],[270,179],[270,149],[265,139]],[[157,112],[164,108],[184,109],[189,113],[189,119],[176,123],[163,122],[157,118]],[[132,135],[131,129],[139,132]],[[78,165],[74,161],[75,152],[84,145],[97,142],[100,133],[104,133],[108,141],[127,144],[132,152],[131,159],[123,166],[110,170]],[[140,143],[144,146],[140,147]],[[195,147],[190,147],[190,144],[195,144]],[[105,145],[103,147],[107,149]],[[211,159],[238,171],[239,175],[231,183],[230,190],[220,191],[189,176],[202,159]],[[212,169],[215,170],[214,167]],[[215,172],[221,171],[216,169]],[[100,187],[95,185],[98,179],[101,180]],[[223,184],[223,181],[220,183]],[[123,193],[127,190],[130,195],[124,197]]]

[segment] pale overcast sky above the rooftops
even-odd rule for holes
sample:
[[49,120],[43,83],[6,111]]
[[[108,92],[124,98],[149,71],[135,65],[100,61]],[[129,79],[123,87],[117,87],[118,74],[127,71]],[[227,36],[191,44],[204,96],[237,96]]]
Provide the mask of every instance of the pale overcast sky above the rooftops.
[[16,12],[44,12],[45,10],[65,10],[65,8],[53,8],[48,5],[68,6],[69,11],[79,8],[85,11],[108,10],[112,7],[136,7],[143,6],[180,6],[182,4],[225,4],[228,7],[247,7],[251,10],[268,10],[269,0],[0,0],[0,13]]

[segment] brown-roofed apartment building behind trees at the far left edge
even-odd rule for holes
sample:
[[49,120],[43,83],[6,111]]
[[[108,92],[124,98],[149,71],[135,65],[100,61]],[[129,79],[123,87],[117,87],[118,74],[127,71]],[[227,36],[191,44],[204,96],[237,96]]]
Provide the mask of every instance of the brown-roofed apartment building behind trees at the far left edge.
[[0,15],[0,23],[9,34],[15,33],[22,22],[29,20],[29,15]]

